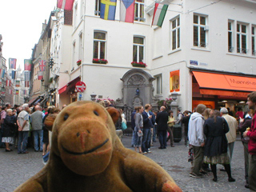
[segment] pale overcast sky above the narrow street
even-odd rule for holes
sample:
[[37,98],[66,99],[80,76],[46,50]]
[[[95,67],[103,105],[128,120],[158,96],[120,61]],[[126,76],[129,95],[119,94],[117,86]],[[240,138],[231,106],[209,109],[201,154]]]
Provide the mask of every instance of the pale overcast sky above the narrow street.
[[42,32],[42,23],[48,22],[57,0],[0,0],[0,34],[2,57],[17,58],[17,68],[24,69],[24,59],[30,59],[34,45]]

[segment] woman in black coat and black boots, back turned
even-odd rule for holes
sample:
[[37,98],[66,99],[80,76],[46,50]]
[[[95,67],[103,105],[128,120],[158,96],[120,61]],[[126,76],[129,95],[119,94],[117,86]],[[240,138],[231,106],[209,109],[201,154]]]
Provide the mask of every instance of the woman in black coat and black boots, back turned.
[[213,116],[208,118],[204,124],[204,134],[206,135],[204,162],[210,164],[210,168],[214,174],[214,182],[217,182],[217,164],[222,164],[225,167],[229,182],[235,181],[231,177],[230,158],[227,154],[226,133],[229,130],[226,120],[220,117],[218,110],[214,110]]

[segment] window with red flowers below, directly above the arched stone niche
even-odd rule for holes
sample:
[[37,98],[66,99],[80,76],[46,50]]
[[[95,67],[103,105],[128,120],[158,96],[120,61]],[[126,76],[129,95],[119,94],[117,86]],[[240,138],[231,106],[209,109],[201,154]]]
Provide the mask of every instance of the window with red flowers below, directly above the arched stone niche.
[[144,62],[144,38],[134,37],[133,62]]

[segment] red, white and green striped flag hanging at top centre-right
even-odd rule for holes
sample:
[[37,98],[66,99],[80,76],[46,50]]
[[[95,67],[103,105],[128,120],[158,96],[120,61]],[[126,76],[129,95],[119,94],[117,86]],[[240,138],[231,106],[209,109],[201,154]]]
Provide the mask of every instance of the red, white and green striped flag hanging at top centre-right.
[[167,9],[168,9],[168,5],[155,3],[152,26],[160,26],[160,27],[162,26],[162,22],[163,22],[164,18],[166,17]]

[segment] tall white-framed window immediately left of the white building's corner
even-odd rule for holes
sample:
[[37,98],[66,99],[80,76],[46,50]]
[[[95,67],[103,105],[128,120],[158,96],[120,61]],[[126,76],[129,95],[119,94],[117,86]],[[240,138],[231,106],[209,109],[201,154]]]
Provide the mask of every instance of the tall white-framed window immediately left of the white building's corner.
[[176,50],[180,47],[180,23],[179,17],[171,21],[171,49]]

